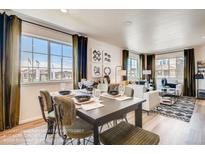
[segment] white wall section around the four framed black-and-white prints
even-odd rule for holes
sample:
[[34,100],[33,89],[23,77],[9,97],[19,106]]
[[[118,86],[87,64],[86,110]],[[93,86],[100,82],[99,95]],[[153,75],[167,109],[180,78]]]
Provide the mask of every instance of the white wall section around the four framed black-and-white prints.
[[88,38],[88,79],[92,78],[92,48],[108,51],[111,55],[111,82],[115,82],[115,67],[122,65],[122,49],[114,45]]

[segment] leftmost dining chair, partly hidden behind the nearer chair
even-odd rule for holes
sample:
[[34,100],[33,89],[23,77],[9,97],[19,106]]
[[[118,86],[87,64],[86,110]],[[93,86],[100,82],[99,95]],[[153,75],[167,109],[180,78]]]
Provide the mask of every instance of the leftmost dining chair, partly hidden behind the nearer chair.
[[56,118],[55,118],[55,114],[53,111],[52,98],[48,91],[41,90],[40,96],[38,96],[38,99],[39,99],[43,119],[47,123],[47,132],[46,132],[45,140],[47,139],[48,134],[53,134],[52,144],[54,144]]

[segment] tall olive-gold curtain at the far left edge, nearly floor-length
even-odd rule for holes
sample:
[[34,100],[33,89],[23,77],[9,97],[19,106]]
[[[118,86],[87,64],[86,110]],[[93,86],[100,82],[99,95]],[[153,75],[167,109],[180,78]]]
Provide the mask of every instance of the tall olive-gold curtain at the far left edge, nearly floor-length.
[[0,14],[0,130],[19,124],[21,20]]

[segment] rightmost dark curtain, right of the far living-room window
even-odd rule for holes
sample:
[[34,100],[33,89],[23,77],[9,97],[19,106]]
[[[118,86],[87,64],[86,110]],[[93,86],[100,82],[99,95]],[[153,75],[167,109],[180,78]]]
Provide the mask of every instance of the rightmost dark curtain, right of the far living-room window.
[[196,96],[194,49],[184,50],[184,96]]

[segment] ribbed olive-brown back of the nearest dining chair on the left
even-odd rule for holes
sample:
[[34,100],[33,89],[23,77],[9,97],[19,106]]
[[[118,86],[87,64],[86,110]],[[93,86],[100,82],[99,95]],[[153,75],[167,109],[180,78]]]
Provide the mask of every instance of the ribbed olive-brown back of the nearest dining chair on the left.
[[64,129],[73,124],[76,118],[75,103],[71,98],[65,96],[56,96],[54,98],[54,110],[57,119],[59,135],[63,136]]

